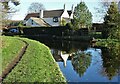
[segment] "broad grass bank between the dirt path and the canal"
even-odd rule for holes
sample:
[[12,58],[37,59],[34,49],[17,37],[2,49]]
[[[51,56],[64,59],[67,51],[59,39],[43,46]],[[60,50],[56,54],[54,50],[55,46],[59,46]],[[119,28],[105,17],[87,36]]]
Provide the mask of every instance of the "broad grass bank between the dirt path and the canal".
[[[16,39],[11,38],[13,41]],[[29,46],[18,65],[4,82],[65,82],[50,49],[33,40],[22,38]]]

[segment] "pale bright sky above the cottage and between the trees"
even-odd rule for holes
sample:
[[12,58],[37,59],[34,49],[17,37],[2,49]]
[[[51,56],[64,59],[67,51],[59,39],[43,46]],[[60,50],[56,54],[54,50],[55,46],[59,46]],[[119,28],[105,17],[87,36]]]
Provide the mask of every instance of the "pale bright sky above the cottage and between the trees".
[[[63,5],[66,5],[67,10],[70,10],[72,5],[76,6],[81,1],[84,1],[89,8],[90,12],[93,15],[93,22],[99,23],[103,22],[103,20],[96,16],[97,10],[95,8],[100,7],[99,0],[19,0],[20,5],[15,7],[18,12],[13,14],[12,20],[24,20],[27,15],[27,10],[32,2],[42,3],[46,10],[54,10],[54,9],[63,9]],[[9,4],[11,7],[14,7],[13,4]]]

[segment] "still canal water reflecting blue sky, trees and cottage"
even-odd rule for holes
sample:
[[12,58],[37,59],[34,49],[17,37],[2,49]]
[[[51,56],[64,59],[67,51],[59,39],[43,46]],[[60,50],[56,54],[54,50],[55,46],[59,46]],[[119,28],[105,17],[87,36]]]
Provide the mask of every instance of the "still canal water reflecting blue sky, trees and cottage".
[[40,40],[51,49],[68,82],[111,82],[120,84],[120,61],[107,48],[89,42]]

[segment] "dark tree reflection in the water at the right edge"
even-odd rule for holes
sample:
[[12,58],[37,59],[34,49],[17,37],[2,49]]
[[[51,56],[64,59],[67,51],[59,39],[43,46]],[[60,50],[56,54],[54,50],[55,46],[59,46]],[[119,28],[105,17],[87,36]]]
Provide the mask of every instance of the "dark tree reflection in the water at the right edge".
[[112,80],[118,74],[120,67],[120,45],[109,46],[102,49],[103,74]]

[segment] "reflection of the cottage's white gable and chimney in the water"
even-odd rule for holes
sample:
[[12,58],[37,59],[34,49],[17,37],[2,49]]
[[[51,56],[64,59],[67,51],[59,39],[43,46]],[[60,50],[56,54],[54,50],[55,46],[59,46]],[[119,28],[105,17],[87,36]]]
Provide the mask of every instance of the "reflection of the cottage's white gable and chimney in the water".
[[64,66],[66,66],[67,60],[71,60],[71,54],[66,53],[65,51],[51,49],[52,55],[56,62],[64,62]]

